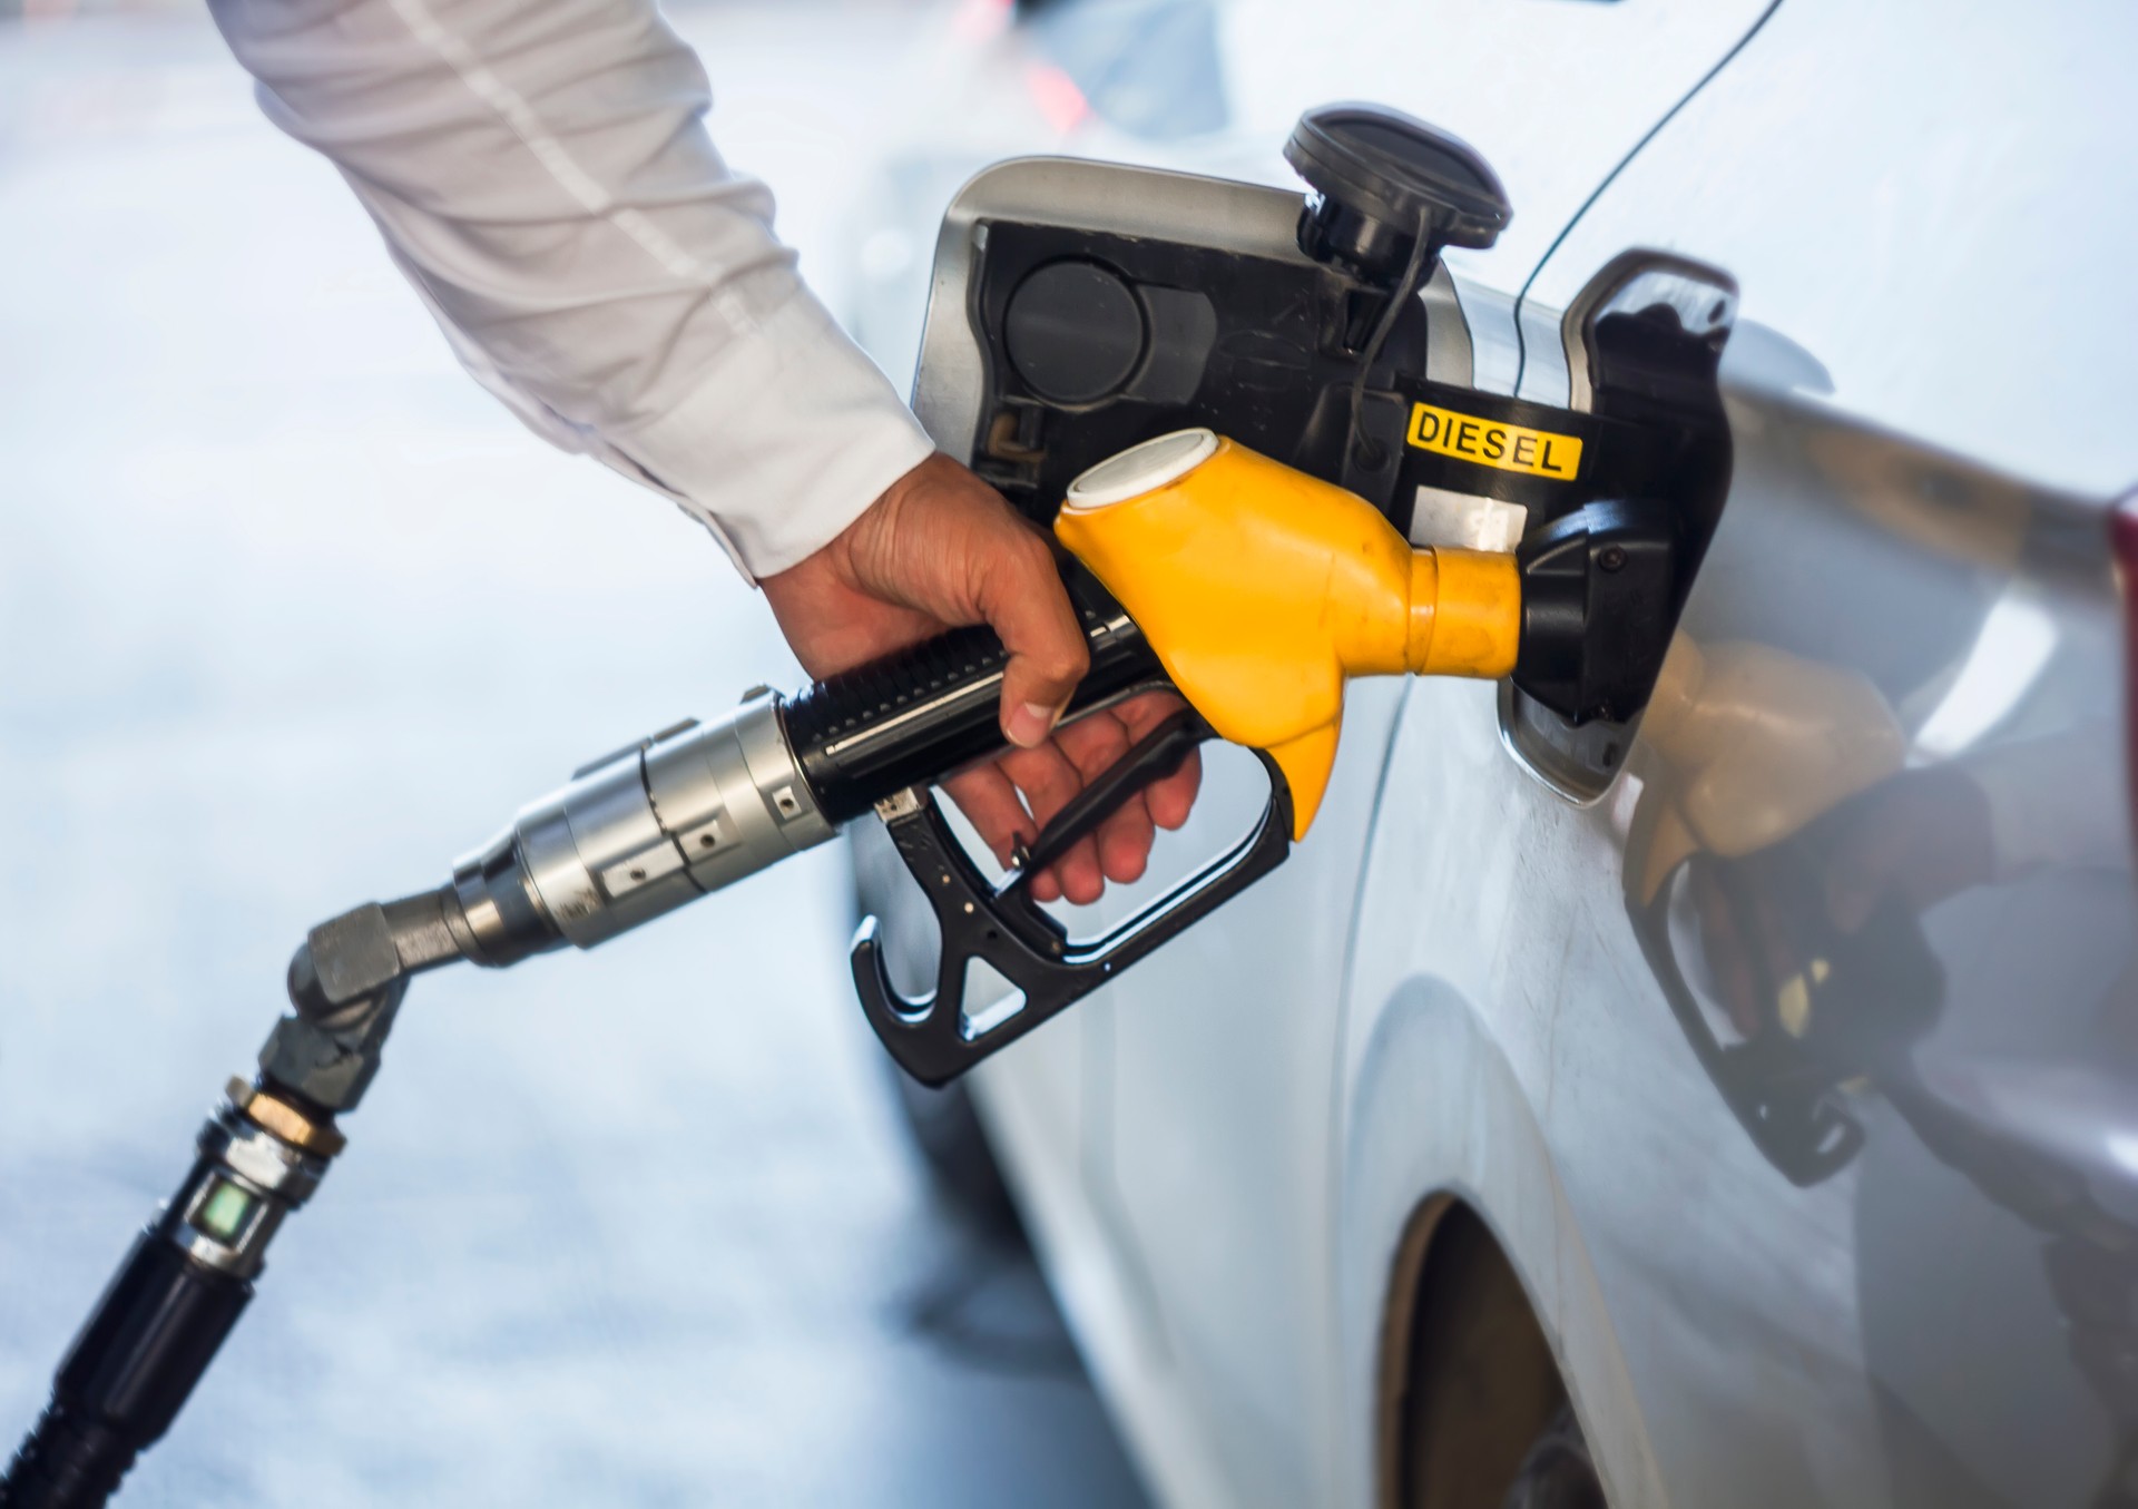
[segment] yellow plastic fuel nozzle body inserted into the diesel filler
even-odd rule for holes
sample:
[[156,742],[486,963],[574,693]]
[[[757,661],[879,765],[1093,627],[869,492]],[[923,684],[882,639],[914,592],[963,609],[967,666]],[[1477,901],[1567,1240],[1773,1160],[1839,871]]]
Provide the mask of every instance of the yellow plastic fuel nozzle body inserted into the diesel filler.
[[1411,549],[1364,498],[1210,430],[1090,468],[1054,532],[1210,727],[1270,752],[1291,789],[1293,838],[1336,763],[1349,678],[1514,671],[1514,556]]

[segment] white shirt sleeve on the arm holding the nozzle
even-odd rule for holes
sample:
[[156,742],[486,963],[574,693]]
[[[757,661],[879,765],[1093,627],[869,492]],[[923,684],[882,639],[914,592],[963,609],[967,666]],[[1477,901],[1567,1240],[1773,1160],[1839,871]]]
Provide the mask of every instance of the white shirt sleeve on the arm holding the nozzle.
[[210,0],[267,115],[342,169],[462,363],[706,522],[750,577],[932,445],[706,137],[652,0]]

